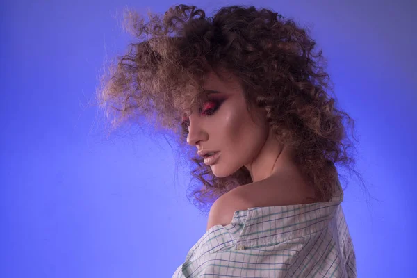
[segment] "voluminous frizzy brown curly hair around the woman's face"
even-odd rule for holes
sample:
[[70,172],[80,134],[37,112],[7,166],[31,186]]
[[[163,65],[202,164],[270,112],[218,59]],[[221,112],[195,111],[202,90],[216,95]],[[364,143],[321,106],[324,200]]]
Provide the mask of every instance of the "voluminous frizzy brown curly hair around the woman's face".
[[[202,84],[209,70],[234,74],[247,108],[265,108],[279,142],[295,149],[294,161],[322,201],[334,194],[336,165],[352,170],[346,130],[354,121],[336,108],[322,51],[306,28],[292,19],[254,6],[220,8],[213,17],[195,6],[179,5],[149,20],[128,11],[126,26],[135,43],[117,57],[97,93],[113,129],[131,116],[146,116],[174,131],[182,154],[193,163],[198,186],[189,197],[206,207],[222,194],[252,182],[245,167],[218,178],[195,148],[186,144],[182,115],[206,97]],[[352,132],[353,136],[353,132]]]

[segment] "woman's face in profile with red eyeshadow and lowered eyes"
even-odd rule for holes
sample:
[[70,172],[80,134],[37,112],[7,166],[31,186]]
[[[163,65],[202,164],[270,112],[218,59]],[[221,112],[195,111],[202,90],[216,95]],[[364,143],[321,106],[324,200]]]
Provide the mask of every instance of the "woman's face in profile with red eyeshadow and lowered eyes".
[[196,152],[218,152],[208,165],[216,177],[227,177],[243,166],[250,170],[269,131],[265,110],[252,109],[252,120],[243,88],[236,79],[225,78],[225,72],[220,74],[222,79],[214,72],[208,74],[204,83],[208,101],[184,120],[188,124],[188,144],[196,146]]

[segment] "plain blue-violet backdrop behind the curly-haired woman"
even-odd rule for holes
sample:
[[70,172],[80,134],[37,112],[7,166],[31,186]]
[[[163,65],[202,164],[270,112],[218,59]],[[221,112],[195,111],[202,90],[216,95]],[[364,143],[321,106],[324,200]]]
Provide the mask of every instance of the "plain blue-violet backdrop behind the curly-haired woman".
[[[416,275],[417,9],[394,2],[199,5],[256,4],[313,28],[361,141],[370,194],[353,179],[343,203],[359,277]],[[204,234],[170,145],[145,134],[106,140],[89,106],[106,58],[130,41],[122,10],[148,6],[1,1],[0,277],[171,277]]]

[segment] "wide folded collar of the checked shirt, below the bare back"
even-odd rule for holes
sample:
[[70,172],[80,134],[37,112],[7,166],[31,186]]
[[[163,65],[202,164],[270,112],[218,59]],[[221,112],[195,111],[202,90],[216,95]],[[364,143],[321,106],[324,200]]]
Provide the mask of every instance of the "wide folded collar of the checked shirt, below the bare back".
[[224,229],[242,248],[273,245],[325,229],[341,202],[343,190],[337,183],[336,193],[329,202],[235,211],[231,223]]

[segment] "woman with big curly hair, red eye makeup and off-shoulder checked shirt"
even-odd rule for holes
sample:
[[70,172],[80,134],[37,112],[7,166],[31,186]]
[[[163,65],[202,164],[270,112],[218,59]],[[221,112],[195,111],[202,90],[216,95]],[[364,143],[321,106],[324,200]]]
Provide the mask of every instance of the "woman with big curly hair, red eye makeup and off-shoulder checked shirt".
[[335,167],[354,163],[353,122],[329,97],[314,40],[254,7],[206,17],[180,5],[150,18],[129,13],[140,41],[99,101],[122,111],[113,122],[140,113],[193,152],[193,194],[212,206],[173,277],[356,277]]

